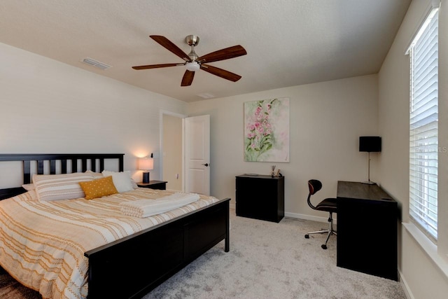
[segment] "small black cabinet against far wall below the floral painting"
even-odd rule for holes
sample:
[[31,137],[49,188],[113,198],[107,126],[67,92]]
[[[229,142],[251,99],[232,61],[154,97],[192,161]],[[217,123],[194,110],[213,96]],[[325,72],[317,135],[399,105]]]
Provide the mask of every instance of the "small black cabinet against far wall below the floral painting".
[[242,174],[236,177],[237,216],[280,222],[285,216],[285,178]]

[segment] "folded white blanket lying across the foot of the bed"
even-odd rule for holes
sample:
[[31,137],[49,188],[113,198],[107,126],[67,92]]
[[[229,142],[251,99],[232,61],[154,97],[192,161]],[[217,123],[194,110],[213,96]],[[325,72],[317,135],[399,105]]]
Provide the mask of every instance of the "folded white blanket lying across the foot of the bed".
[[173,195],[160,197],[157,200],[122,202],[120,203],[120,210],[127,216],[146,218],[183,207],[197,200],[199,200],[199,195],[196,193],[174,193]]

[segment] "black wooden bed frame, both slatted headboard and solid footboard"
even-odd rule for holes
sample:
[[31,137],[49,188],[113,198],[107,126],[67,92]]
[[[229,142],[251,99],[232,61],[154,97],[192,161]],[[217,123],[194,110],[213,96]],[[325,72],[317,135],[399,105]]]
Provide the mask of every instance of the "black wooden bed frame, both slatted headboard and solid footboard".
[[[45,161],[50,163],[50,174],[65,174],[69,163],[71,172],[85,172],[88,164],[93,172],[102,172],[105,159],[118,159],[118,169],[123,171],[123,156],[122,153],[0,154],[0,161],[22,161],[23,183],[30,183],[31,162],[37,163],[37,174],[43,174],[44,164],[48,163]],[[81,169],[77,167],[79,160]],[[56,161],[61,161],[61,169],[56,169]],[[0,200],[25,192],[22,187],[0,189]],[[230,198],[219,200],[85,252],[89,259],[87,298],[141,298],[222,240],[224,251],[228,252],[229,202]]]

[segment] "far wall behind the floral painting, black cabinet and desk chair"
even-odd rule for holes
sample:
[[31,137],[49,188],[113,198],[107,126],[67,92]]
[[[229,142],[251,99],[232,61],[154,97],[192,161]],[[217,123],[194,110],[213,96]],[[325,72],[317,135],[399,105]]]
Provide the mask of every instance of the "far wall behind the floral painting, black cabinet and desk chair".
[[[290,162],[244,162],[244,102],[276,97],[290,98]],[[322,181],[319,200],[335,197],[338,180],[367,180],[367,153],[358,151],[358,137],[377,134],[377,97],[377,76],[371,75],[188,104],[190,116],[210,114],[211,194],[235,204],[235,176],[270,174],[275,164],[285,176],[286,213],[325,220],[327,214],[306,203],[307,181]]]

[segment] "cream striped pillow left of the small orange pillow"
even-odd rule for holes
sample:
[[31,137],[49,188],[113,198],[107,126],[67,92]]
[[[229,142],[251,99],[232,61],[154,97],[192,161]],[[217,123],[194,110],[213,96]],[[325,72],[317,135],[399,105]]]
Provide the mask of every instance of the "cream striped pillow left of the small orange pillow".
[[71,200],[84,197],[80,181],[92,181],[92,174],[33,174],[33,183],[38,200]]

